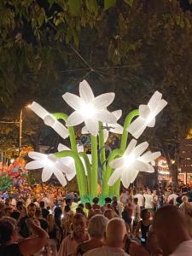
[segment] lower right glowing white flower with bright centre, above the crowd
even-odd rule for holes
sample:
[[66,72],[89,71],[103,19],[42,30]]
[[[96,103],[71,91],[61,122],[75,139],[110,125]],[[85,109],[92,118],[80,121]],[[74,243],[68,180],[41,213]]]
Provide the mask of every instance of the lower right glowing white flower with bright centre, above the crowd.
[[160,152],[151,153],[143,152],[148,148],[148,143],[144,142],[137,145],[137,141],[132,139],[125,153],[109,163],[113,169],[112,176],[108,180],[108,184],[113,184],[120,178],[125,188],[128,188],[130,183],[133,183],[138,172],[154,172],[154,167],[149,164],[150,161],[158,158]]

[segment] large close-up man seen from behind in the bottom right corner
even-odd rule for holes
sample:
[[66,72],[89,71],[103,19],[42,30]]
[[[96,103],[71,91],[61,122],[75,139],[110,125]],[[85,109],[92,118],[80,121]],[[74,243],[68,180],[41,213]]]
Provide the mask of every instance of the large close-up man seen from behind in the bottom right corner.
[[191,256],[192,239],[178,207],[167,205],[154,213],[153,230],[164,256]]

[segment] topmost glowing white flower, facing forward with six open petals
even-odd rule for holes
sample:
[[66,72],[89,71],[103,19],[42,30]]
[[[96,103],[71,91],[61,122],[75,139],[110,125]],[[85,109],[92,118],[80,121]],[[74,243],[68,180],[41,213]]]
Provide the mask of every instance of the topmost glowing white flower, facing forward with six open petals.
[[95,97],[90,85],[84,80],[79,84],[79,95],[80,97],[67,92],[62,96],[67,104],[75,110],[68,117],[67,126],[79,125],[84,122],[90,134],[97,136],[99,131],[98,121],[108,124],[117,122],[113,113],[107,110],[108,105],[113,102],[113,92]]

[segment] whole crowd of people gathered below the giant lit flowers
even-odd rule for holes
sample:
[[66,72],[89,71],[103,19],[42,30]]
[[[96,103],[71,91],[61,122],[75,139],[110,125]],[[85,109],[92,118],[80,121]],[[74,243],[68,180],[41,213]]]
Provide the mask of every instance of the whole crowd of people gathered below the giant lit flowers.
[[192,189],[129,189],[83,204],[47,189],[0,195],[0,256],[192,255]]

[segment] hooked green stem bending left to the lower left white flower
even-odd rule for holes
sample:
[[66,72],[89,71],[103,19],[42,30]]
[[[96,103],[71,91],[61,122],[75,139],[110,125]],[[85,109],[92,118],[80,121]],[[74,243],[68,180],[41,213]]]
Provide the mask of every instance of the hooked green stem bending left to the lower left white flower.
[[77,180],[78,180],[78,184],[79,184],[79,194],[81,197],[86,197],[87,196],[87,183],[86,183],[86,179],[82,178],[83,176],[85,176],[84,173],[84,165],[82,164],[82,161],[79,158],[79,154],[77,154],[76,152],[73,152],[72,150],[63,150],[61,152],[57,152],[55,153],[56,157],[73,157],[73,160],[76,163],[76,174],[77,174]]

